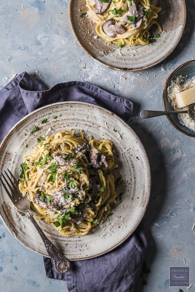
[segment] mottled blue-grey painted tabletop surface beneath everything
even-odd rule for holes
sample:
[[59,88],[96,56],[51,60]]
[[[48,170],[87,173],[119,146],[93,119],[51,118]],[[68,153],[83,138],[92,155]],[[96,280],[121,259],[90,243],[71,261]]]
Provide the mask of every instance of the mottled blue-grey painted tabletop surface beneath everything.
[[[129,125],[143,142],[152,173],[151,198],[143,219],[151,273],[145,276],[146,286],[139,279],[137,292],[179,292],[169,287],[170,266],[189,266],[189,291],[195,291],[195,141],[179,133],[166,117],[139,117],[143,109],[163,110],[166,79],[195,58],[195,1],[187,0],[186,5],[183,37],[165,61],[140,72],[117,72],[94,62],[76,43],[68,22],[68,0],[0,3],[0,88],[27,71],[45,88],[87,81],[134,102]],[[66,282],[46,278],[42,256],[20,244],[2,222],[0,279],[0,291],[5,292],[68,291]]]

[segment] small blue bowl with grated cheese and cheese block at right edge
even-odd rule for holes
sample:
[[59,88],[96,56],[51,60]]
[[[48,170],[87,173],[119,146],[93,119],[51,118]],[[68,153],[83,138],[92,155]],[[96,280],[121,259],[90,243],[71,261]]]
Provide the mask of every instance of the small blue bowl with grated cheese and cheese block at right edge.
[[[168,77],[163,90],[165,111],[187,110],[195,102],[195,60],[186,62]],[[195,137],[195,121],[189,114],[167,115],[170,123],[181,133]]]

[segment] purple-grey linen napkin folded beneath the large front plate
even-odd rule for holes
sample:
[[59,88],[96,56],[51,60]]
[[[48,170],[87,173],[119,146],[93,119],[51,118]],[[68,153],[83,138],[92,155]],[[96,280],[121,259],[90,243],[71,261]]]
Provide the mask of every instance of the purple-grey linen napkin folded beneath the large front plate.
[[[123,120],[132,114],[132,102],[86,82],[56,84],[49,90],[27,72],[15,77],[0,91],[0,142],[25,115],[44,105],[62,101],[88,102],[114,112]],[[65,274],[55,272],[44,257],[46,276],[67,281],[70,292],[132,292],[147,249],[144,230],[138,227],[126,241],[102,256],[72,261]]]

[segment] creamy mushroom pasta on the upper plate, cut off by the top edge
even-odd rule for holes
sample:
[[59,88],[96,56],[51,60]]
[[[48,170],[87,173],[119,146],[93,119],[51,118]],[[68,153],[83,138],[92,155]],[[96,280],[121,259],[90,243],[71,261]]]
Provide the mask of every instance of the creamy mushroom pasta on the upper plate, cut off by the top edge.
[[151,26],[161,8],[158,0],[86,0],[87,15],[96,23],[96,33],[106,43],[123,45],[148,44],[160,36]]

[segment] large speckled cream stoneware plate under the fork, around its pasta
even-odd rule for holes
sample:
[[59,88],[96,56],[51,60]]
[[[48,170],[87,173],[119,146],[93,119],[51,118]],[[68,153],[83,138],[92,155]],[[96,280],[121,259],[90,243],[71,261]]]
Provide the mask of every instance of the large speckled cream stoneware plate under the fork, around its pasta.
[[[54,115],[56,119],[52,118]],[[44,118],[47,123],[41,124]],[[34,125],[38,126],[39,131],[29,136]],[[9,131],[0,145],[1,171],[9,168],[18,178],[20,164],[25,160],[23,156],[32,151],[37,145],[37,138],[44,137],[49,127],[51,132],[48,135],[65,129],[74,129],[79,134],[80,129],[83,129],[86,138],[92,135],[97,140],[107,138],[114,143],[115,161],[119,164],[116,175],[120,173],[125,182],[117,191],[118,194],[123,192],[122,203],[113,210],[114,214],[85,236],[64,237],[45,220],[38,221],[46,236],[69,260],[99,256],[129,237],[144,215],[151,190],[146,152],[132,129],[112,112],[82,102],[61,102],[28,114]],[[28,147],[25,148],[25,145]],[[32,251],[48,256],[33,224],[18,214],[1,185],[0,194],[1,219],[11,234]]]

